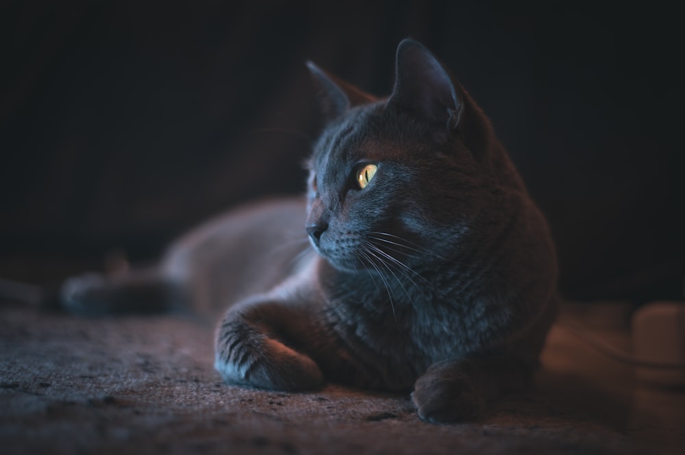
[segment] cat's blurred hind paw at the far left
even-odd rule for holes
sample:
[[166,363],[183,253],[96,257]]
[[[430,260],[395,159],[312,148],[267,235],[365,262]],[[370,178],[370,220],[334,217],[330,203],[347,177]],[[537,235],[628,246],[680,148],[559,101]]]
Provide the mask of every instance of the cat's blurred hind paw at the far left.
[[62,307],[70,313],[97,315],[104,313],[105,277],[88,273],[64,281],[60,289]]

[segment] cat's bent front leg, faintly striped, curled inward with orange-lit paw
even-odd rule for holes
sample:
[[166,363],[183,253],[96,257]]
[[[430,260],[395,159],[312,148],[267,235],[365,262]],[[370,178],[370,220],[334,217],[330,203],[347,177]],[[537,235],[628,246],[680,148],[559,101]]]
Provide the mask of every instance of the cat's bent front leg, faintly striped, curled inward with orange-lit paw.
[[225,382],[297,391],[323,385],[316,363],[296,345],[310,333],[308,317],[279,302],[229,310],[216,335],[214,367]]

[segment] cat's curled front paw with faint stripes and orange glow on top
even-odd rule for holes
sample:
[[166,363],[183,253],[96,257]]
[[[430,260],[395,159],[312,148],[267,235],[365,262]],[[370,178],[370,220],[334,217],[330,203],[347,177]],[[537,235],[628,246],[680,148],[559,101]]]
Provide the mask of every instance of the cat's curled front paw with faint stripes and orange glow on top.
[[301,391],[323,385],[319,365],[309,356],[274,339],[240,343],[231,350],[217,346],[214,367],[225,382],[260,389]]

